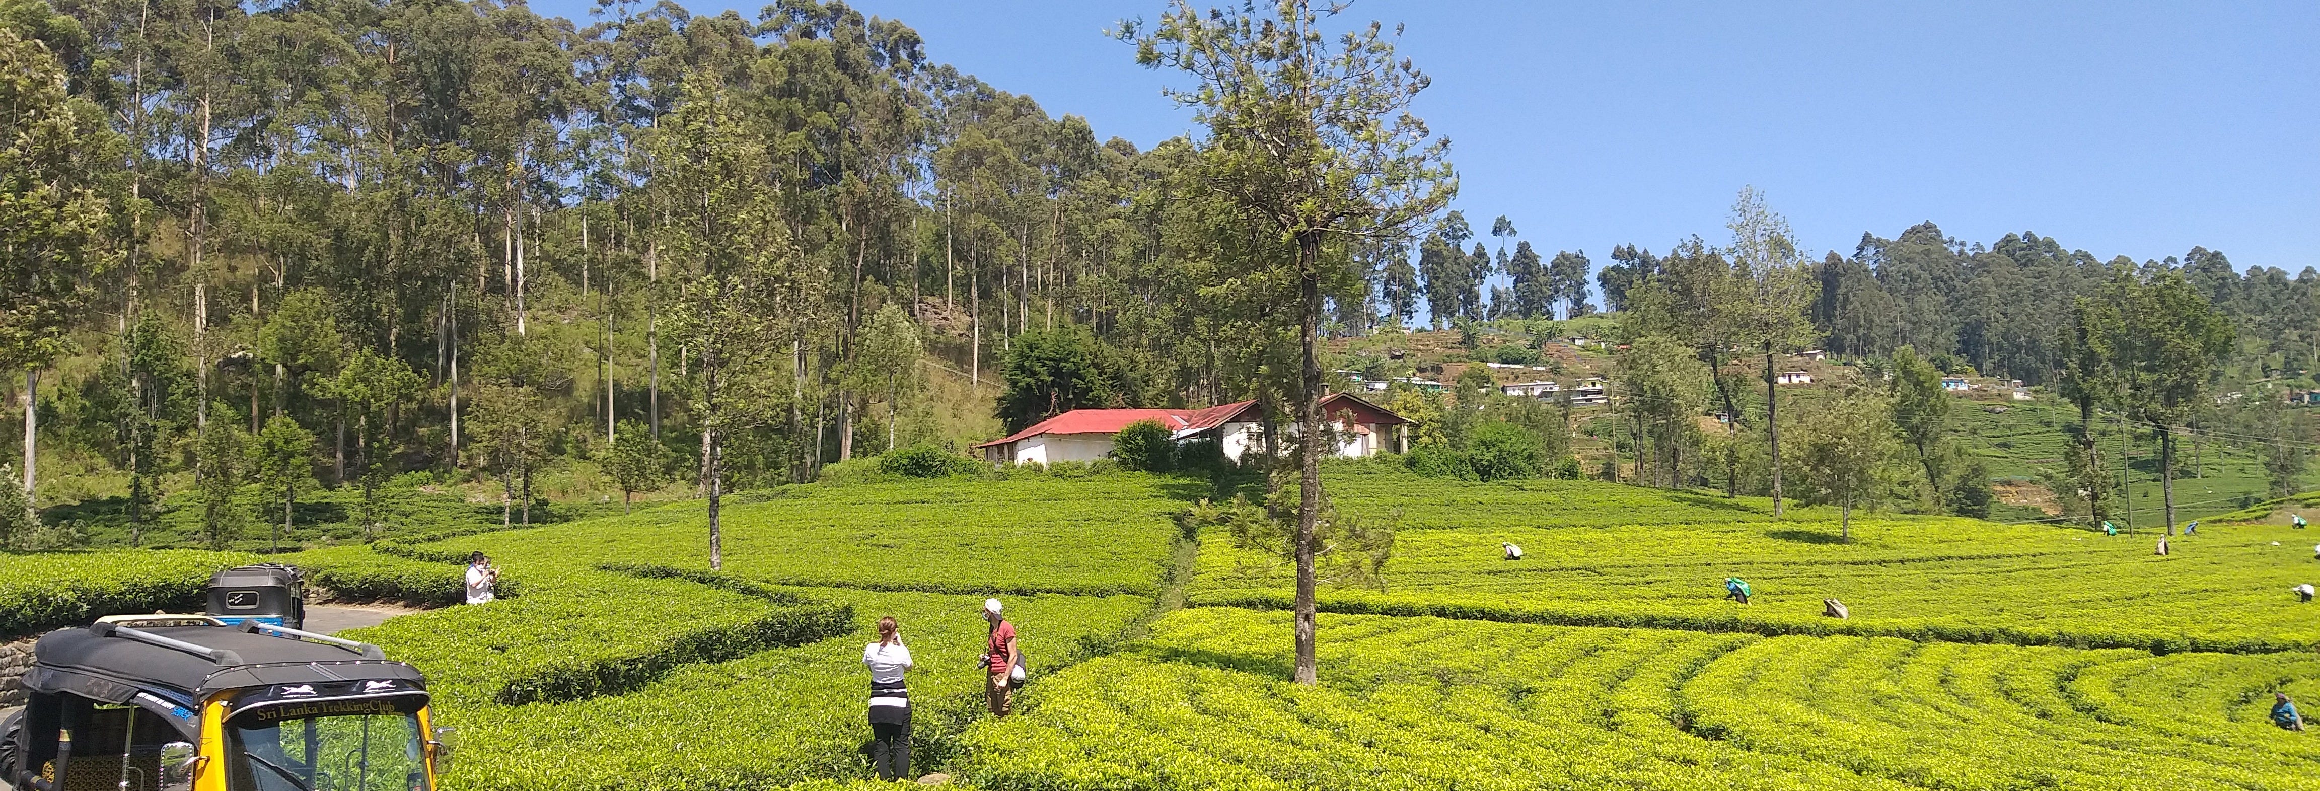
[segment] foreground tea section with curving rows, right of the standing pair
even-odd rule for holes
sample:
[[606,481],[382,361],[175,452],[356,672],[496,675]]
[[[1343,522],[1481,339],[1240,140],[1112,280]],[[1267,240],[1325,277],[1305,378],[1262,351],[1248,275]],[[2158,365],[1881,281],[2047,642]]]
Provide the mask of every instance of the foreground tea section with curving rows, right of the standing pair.
[[993,789],[2304,789],[2306,654],[2088,652],[1199,608],[967,731]]

